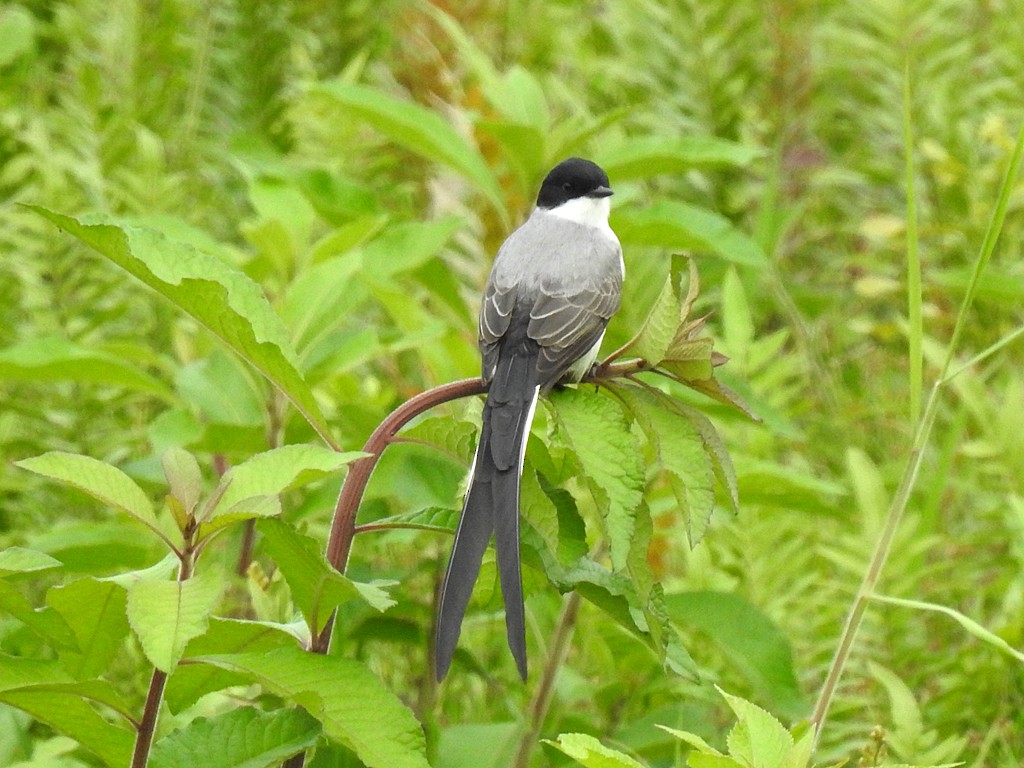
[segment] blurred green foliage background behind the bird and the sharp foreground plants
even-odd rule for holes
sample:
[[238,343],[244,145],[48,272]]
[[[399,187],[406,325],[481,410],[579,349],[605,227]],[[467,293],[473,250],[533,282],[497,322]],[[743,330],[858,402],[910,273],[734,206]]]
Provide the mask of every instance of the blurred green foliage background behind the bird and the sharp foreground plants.
[[[196,454],[212,488],[218,463],[316,435],[194,317],[14,203],[104,214],[244,271],[288,329],[334,439],[356,450],[401,400],[475,375],[476,300],[492,254],[544,170],[586,154],[611,175],[627,253],[608,348],[640,327],[669,255],[687,250],[703,287],[698,309],[712,312],[710,332],[730,357],[720,378],[764,422],[692,400],[722,433],[740,496],[737,515],[720,499],[693,549],[671,483],[648,486],[648,561],[700,678],[666,672],[584,603],[539,735],[581,731],[671,765],[682,760],[679,742],[654,723],[711,741],[728,728],[711,683],[783,720],[806,717],[921,408],[908,349],[905,131],[928,383],[1024,119],[1024,6],[444,7],[82,0],[0,10],[0,541],[47,552],[65,569],[30,582],[28,597],[42,604],[49,586],[151,566],[160,550],[131,521],[11,462],[85,454],[159,499],[169,447]],[[1017,182],[964,359],[1022,325],[1022,204]],[[1010,344],[944,391],[881,584],[1016,647],[1021,364]],[[472,422],[474,408],[446,413]],[[531,461],[543,461],[537,444]],[[396,446],[360,521],[453,508],[463,474],[460,461]],[[323,542],[338,483],[286,493],[285,518]],[[224,572],[240,536],[211,548]],[[507,658],[486,567],[464,632],[472,655],[440,690],[426,671],[449,545],[415,530],[360,536],[350,573],[399,582],[397,605],[346,608],[336,642],[413,709],[435,764],[481,765],[481,754],[504,764],[532,691]],[[257,542],[255,571],[232,583],[219,614],[289,617],[285,593],[260,587],[265,555]],[[543,580],[527,592],[536,659],[561,598]],[[8,654],[45,656],[24,622],[0,620],[0,642]],[[108,677],[140,705],[142,650],[126,648]],[[223,703],[203,701],[211,712]],[[189,712],[181,722],[210,714]],[[1022,712],[1019,662],[947,615],[872,603],[820,758],[870,751],[881,725],[901,760],[1017,766]],[[22,710],[0,718],[0,762],[94,759]],[[296,745],[309,742],[307,722],[281,727]],[[542,746],[532,761],[565,758]]]

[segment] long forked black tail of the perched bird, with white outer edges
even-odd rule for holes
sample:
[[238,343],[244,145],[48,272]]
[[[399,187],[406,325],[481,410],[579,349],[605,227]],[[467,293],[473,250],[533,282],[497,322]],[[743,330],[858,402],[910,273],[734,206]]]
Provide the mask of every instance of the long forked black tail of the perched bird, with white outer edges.
[[540,394],[540,387],[531,381],[532,369],[532,359],[514,356],[499,365],[483,407],[480,440],[437,611],[434,669],[438,681],[452,665],[462,620],[492,534],[509,648],[520,677],[526,679],[526,624],[519,570],[519,477]]

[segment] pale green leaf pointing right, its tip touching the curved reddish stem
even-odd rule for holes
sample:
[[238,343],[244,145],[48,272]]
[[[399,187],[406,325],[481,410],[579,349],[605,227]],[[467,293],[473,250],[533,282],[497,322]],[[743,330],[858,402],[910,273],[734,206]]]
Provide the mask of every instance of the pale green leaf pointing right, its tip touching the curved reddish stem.
[[307,444],[285,445],[257,454],[231,467],[221,478],[220,485],[226,489],[214,508],[214,516],[244,499],[276,496],[321,479],[365,456],[359,451],[339,453]]

